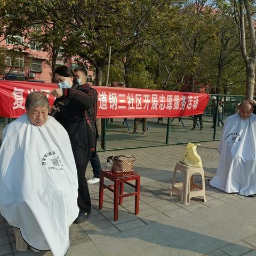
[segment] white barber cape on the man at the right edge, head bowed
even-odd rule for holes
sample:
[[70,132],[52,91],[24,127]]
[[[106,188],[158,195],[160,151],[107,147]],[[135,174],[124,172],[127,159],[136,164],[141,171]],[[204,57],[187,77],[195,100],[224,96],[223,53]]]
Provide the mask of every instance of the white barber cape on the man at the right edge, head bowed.
[[210,185],[227,193],[256,194],[256,116],[226,119],[219,143],[220,162]]

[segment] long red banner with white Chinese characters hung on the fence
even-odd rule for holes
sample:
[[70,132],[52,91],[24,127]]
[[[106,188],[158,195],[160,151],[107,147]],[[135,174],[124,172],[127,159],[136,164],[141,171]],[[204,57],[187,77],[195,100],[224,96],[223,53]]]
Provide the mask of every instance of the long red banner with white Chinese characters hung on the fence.
[[[209,95],[134,88],[92,86],[98,92],[99,118],[179,117],[204,112]],[[0,81],[0,116],[16,118],[25,113],[28,93],[39,91],[54,101],[51,91],[57,84]]]

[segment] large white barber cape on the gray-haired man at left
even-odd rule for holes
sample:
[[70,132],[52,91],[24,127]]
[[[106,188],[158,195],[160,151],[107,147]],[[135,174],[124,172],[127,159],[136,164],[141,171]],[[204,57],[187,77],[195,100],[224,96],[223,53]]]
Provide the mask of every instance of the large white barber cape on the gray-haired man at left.
[[39,127],[22,115],[3,132],[0,212],[38,250],[63,256],[77,218],[77,171],[66,130],[51,116]]

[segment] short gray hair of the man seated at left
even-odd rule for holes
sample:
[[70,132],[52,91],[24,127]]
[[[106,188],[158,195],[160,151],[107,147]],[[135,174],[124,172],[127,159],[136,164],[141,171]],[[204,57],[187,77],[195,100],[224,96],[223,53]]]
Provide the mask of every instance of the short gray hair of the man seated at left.
[[27,95],[25,108],[29,110],[37,107],[49,108],[49,101],[42,92],[31,92]]

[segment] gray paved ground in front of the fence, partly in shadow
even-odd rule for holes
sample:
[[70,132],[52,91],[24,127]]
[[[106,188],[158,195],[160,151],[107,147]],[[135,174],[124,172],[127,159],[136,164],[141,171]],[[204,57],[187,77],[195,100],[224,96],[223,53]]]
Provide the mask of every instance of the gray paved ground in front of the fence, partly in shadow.
[[[218,166],[217,146],[218,142],[204,142],[198,147],[207,184]],[[170,197],[172,170],[184,148],[179,145],[100,153],[102,166],[110,155],[127,153],[137,157],[136,170],[141,174],[140,212],[133,214],[134,198],[126,197],[115,222],[110,191],[99,210],[98,184],[90,185],[92,214],[88,221],[70,227],[67,256],[256,255],[256,198],[226,194],[209,185],[206,203],[196,199],[183,205],[178,196]],[[91,170],[87,175],[91,177]],[[15,251],[12,228],[4,219],[0,221],[0,256],[52,255],[30,249]]]

